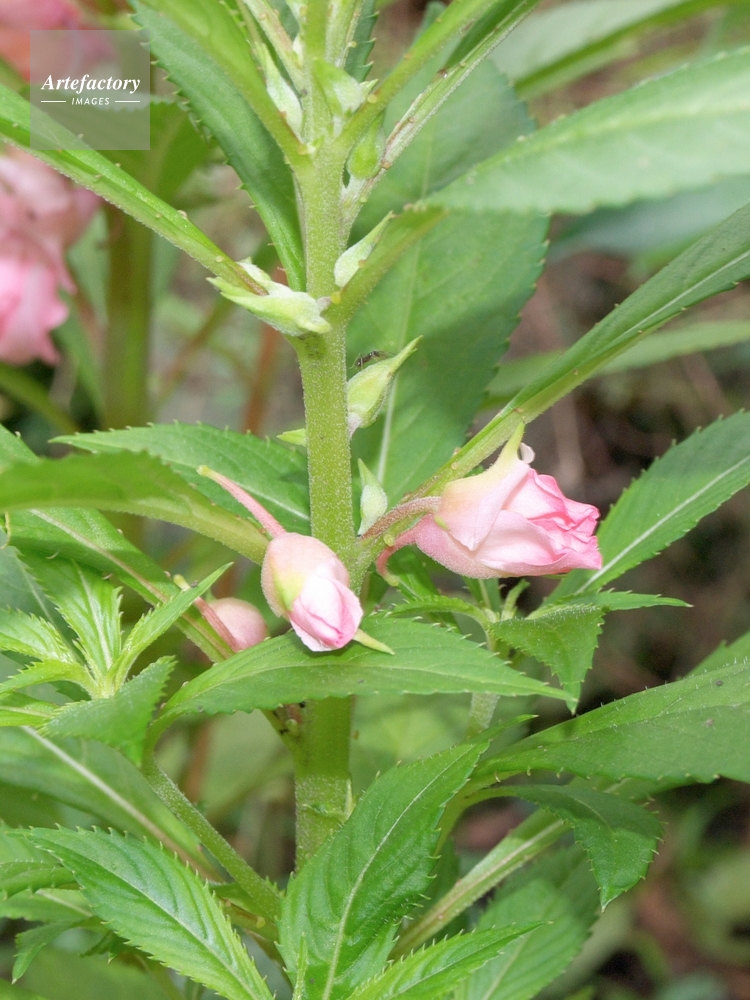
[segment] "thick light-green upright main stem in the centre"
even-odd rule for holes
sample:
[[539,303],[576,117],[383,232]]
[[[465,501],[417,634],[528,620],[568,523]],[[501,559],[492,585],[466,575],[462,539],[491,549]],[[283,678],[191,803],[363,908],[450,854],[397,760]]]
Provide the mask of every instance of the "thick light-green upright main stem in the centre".
[[[314,99],[314,97],[313,97]],[[324,114],[322,109],[321,113]],[[343,163],[325,142],[300,176],[307,291],[336,290],[333,269],[344,249],[341,224]],[[355,535],[346,409],[346,328],[298,344],[307,424],[312,531],[351,566]],[[356,582],[352,581],[353,583]],[[351,699],[308,702],[295,753],[297,864],[313,854],[346,819],[351,802]]]

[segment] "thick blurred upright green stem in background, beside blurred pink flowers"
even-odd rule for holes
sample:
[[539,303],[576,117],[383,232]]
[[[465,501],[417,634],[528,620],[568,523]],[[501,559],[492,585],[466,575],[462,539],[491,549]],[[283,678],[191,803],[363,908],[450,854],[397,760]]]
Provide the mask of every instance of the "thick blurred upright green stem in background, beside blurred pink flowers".
[[144,424],[148,393],[151,260],[148,229],[106,207],[110,234],[109,323],[104,346],[104,417],[107,427]]

